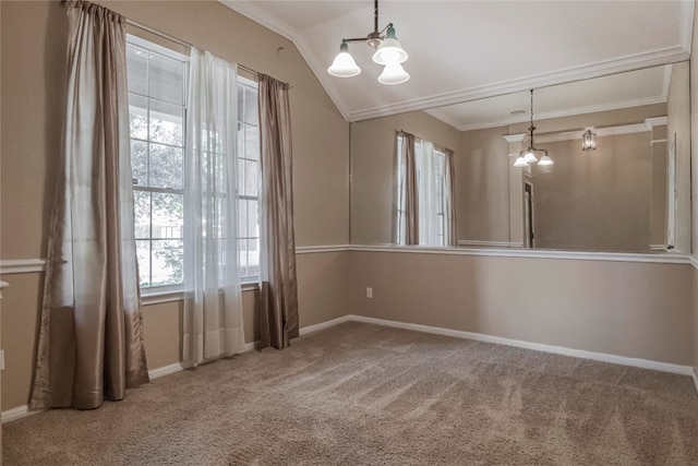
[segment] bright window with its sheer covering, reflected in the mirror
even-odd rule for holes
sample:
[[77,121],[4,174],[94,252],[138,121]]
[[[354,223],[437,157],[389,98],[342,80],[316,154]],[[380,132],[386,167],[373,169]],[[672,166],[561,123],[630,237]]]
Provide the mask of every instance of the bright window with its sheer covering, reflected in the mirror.
[[[397,135],[397,218],[396,242],[405,244],[405,180],[406,162],[402,154],[405,138]],[[448,224],[445,214],[447,179],[446,154],[433,143],[414,139],[414,158],[417,168],[417,191],[419,202],[419,243],[422,246],[446,246]]]

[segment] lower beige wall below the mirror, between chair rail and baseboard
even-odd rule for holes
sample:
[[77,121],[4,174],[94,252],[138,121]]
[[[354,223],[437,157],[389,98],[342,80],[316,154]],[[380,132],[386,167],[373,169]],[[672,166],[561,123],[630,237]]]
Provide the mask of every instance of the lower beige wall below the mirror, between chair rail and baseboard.
[[689,265],[404,252],[350,264],[361,315],[691,363]]

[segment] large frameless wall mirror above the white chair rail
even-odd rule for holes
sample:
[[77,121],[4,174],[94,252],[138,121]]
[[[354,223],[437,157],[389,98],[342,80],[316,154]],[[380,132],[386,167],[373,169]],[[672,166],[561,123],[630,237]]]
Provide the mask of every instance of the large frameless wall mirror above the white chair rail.
[[[457,246],[690,250],[688,63],[351,123],[351,241],[395,243],[398,131],[454,151]],[[582,134],[595,150],[582,151]]]

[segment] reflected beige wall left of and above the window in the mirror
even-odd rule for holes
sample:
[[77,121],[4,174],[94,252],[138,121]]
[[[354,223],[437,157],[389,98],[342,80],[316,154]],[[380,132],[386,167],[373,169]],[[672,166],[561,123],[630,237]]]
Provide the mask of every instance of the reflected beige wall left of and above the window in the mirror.
[[351,242],[395,242],[396,132],[456,151],[460,132],[423,112],[351,123]]

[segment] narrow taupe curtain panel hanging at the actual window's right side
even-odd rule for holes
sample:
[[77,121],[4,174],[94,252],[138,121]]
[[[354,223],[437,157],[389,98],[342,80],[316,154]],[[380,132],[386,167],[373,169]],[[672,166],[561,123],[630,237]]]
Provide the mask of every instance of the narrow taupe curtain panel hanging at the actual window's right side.
[[260,74],[258,93],[262,146],[260,331],[263,347],[281,349],[298,336],[288,84]]

